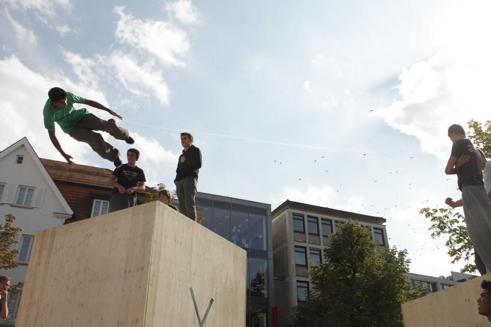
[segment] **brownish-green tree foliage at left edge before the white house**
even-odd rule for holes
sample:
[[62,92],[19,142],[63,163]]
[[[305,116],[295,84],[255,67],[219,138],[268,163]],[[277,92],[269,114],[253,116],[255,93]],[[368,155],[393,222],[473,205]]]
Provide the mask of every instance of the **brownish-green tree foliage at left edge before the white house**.
[[[0,269],[8,270],[19,266],[17,264],[17,256],[19,251],[12,249],[12,245],[18,244],[17,236],[21,229],[14,227],[13,222],[15,217],[13,215],[5,215],[5,223],[0,224]],[[19,282],[16,285],[11,285],[9,291],[22,287],[24,283]]]

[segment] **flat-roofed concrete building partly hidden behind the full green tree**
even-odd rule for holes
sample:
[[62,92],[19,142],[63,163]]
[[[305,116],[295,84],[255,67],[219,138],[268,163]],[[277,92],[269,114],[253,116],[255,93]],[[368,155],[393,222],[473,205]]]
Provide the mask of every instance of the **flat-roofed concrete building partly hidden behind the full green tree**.
[[274,290],[280,324],[290,322],[292,309],[311,291],[308,266],[323,262],[328,236],[349,219],[370,228],[381,246],[388,244],[382,217],[290,200],[273,210]]

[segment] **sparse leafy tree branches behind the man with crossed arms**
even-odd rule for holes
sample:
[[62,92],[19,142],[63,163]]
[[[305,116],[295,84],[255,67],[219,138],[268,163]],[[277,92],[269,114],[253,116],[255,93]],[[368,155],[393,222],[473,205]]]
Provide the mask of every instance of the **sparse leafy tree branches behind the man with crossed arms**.
[[[467,137],[472,141],[474,146],[481,149],[487,158],[491,157],[491,120],[488,120],[484,126],[475,121],[470,120],[467,123]],[[430,219],[432,225],[432,238],[445,237],[445,245],[448,248],[448,255],[452,258],[451,263],[457,263],[461,260],[469,261],[474,254],[474,247],[470,241],[467,225],[464,221],[464,216],[458,212],[454,212],[453,208],[423,208],[419,212],[425,218]],[[480,260],[478,258],[478,260]],[[467,263],[462,273],[475,273],[477,266],[474,263]],[[481,269],[482,271],[482,269]]]

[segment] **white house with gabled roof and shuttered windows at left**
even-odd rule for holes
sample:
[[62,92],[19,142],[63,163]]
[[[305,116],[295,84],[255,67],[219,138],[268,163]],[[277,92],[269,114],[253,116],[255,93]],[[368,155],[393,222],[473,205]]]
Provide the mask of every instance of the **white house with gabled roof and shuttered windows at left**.
[[[35,233],[63,225],[73,215],[26,137],[0,152],[0,224],[7,214],[15,216],[14,227],[22,229],[19,244],[13,245],[19,251],[19,267],[0,270],[14,285],[26,277]],[[9,292],[9,316],[0,319],[0,327],[15,324],[21,294],[22,290]]]

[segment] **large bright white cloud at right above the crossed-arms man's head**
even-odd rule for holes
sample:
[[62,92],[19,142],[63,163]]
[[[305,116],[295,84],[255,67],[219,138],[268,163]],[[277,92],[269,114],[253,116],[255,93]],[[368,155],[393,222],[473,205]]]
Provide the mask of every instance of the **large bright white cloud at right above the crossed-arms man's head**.
[[451,124],[489,119],[489,58],[455,51],[440,52],[432,58],[403,69],[397,87],[401,100],[376,110],[394,129],[416,136],[426,153],[443,155],[451,146],[447,128]]

